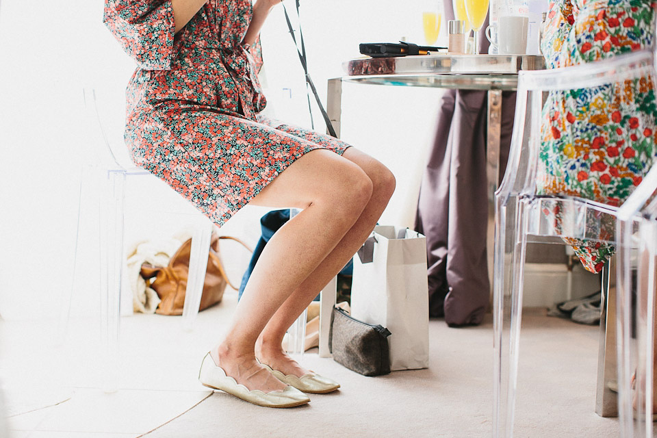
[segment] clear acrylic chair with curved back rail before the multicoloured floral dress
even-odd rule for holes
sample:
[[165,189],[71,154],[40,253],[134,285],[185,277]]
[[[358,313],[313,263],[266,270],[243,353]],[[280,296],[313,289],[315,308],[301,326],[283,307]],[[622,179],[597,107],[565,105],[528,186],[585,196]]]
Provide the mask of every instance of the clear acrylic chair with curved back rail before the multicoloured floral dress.
[[[605,86],[654,75],[653,53],[643,51],[591,64],[519,74],[511,151],[495,192],[493,254],[493,436],[513,436],[523,270],[528,242],[564,244],[574,237],[616,244],[617,209],[587,199],[537,195],[541,112],[545,93]],[[560,209],[561,220],[552,213]],[[608,285],[608,282],[607,282]]]

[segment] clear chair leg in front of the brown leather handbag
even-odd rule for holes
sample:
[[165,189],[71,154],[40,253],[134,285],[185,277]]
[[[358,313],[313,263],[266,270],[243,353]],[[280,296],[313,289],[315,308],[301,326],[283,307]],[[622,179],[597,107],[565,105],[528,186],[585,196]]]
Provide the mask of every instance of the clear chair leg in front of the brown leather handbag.
[[203,218],[203,224],[196,227],[194,236],[192,236],[190,270],[183,304],[183,328],[185,331],[192,331],[194,320],[198,315],[198,308],[201,307],[211,237],[212,226]]

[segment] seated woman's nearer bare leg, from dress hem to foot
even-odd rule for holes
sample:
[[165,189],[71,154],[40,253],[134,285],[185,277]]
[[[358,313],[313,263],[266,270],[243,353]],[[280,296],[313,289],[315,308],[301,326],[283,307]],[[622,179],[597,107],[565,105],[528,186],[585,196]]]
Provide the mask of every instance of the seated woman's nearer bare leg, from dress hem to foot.
[[291,164],[251,204],[298,207],[263,249],[224,341],[210,351],[227,375],[248,389],[285,385],[255,359],[255,342],[272,315],[326,259],[372,196],[372,181],[344,157],[311,151]]

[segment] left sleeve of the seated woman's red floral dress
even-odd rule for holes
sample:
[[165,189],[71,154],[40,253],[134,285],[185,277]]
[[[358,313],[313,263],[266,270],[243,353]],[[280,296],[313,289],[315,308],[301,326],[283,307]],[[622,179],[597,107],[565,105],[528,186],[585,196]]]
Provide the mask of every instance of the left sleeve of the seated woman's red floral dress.
[[171,0],[105,0],[103,23],[144,70],[170,70],[175,22]]

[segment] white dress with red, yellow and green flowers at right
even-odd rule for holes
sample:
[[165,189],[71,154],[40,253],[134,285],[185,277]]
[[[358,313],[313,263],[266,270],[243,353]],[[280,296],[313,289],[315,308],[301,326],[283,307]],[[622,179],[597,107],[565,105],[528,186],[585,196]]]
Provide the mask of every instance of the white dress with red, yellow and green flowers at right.
[[[542,44],[548,68],[651,48],[655,9],[656,2],[646,0],[552,1]],[[657,157],[653,77],[550,92],[542,117],[539,194],[618,206]],[[613,235],[613,223],[598,226],[599,240]],[[613,254],[613,247],[600,241],[567,242],[591,272],[600,272]]]

